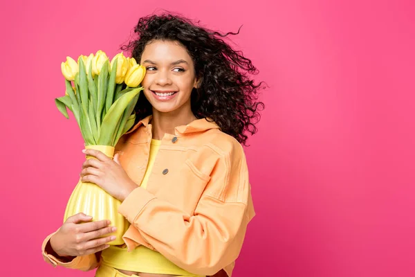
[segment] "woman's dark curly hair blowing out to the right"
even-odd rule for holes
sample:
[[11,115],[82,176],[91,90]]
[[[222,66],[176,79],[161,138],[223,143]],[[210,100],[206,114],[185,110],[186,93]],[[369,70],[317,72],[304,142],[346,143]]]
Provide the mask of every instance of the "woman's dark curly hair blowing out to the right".
[[[257,101],[263,82],[255,84],[250,75],[256,75],[257,68],[241,51],[235,51],[223,40],[228,35],[239,34],[239,30],[221,34],[196,26],[179,15],[149,15],[138,20],[134,28],[137,37],[121,49],[131,51],[131,57],[139,61],[145,46],[154,40],[184,46],[200,80],[198,89],[193,89],[191,94],[194,116],[210,118],[222,132],[246,145],[246,132],[257,132],[255,124],[261,118],[258,111],[264,109],[264,103]],[[140,93],[135,111],[138,120],[151,114],[151,105],[144,93]]]

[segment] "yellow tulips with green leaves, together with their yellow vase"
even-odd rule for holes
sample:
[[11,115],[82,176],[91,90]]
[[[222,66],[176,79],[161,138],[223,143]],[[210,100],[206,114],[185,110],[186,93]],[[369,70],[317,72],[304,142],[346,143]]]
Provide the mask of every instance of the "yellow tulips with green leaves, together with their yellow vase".
[[[62,62],[66,82],[65,96],[55,99],[57,109],[68,117],[68,108],[80,127],[85,148],[92,148],[113,157],[120,136],[135,122],[134,106],[142,87],[145,67],[136,60],[118,53],[111,62],[98,51],[88,57],[80,55],[77,62],[66,57]],[[86,157],[92,159],[92,157]],[[109,244],[123,244],[122,235],[129,226],[118,213],[121,202],[99,186],[78,181],[69,198],[64,221],[76,213],[91,215],[93,220],[111,220],[117,227],[116,240]]]

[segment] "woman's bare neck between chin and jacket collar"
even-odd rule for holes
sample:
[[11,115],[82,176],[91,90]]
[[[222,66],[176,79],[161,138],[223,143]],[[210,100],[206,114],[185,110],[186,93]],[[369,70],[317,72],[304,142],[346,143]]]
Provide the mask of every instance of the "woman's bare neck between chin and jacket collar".
[[153,118],[151,119],[151,131],[153,139],[163,139],[167,134],[174,134],[174,128],[181,125],[187,125],[197,119],[192,111],[181,113],[163,113],[153,109]]

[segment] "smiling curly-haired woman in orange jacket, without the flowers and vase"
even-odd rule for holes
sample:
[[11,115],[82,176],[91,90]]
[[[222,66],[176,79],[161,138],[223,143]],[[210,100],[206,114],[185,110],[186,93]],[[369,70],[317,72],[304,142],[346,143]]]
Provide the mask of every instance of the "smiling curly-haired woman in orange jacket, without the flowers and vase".
[[44,240],[44,259],[98,277],[231,276],[255,215],[241,147],[263,107],[255,66],[181,17],[143,17],[135,32],[122,49],[147,69],[140,121],[113,160],[83,150],[96,159],[81,172],[122,202],[125,244],[109,247],[115,227],[80,213]]

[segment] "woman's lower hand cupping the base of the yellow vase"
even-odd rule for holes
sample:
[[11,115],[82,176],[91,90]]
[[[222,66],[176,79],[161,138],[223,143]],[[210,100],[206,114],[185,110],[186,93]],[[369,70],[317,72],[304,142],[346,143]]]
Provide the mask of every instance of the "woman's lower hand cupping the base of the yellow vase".
[[109,220],[91,222],[92,217],[77,213],[68,217],[66,222],[50,238],[50,247],[61,257],[84,256],[109,247],[107,242],[116,239],[115,235],[100,238],[116,231],[109,226]]

